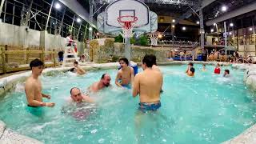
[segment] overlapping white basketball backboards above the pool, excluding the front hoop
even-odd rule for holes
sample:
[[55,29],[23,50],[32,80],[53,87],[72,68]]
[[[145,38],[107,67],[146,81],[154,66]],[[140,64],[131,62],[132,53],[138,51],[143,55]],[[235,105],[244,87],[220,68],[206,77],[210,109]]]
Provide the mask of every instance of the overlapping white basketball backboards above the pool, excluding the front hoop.
[[133,29],[135,34],[151,33],[158,29],[158,15],[150,11],[145,3],[138,0],[117,0],[98,14],[98,30],[106,34],[122,34],[122,26],[118,22],[118,18],[122,16],[138,18]]

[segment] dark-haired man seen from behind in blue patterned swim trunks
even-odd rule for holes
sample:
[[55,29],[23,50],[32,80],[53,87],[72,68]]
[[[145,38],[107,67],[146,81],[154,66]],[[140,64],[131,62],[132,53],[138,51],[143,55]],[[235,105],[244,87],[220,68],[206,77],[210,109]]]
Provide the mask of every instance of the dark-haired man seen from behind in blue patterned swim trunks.
[[142,71],[134,78],[133,97],[139,94],[139,110],[158,110],[161,107],[160,90],[162,88],[162,73],[153,70],[154,60],[150,55],[142,59]]

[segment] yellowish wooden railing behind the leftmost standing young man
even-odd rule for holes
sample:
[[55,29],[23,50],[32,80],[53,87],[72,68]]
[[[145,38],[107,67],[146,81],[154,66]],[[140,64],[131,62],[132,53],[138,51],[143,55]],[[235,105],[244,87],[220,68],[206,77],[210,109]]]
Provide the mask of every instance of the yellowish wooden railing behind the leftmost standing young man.
[[39,50],[8,50],[8,46],[0,46],[0,74],[6,74],[19,70],[30,70],[30,62],[39,58],[46,67],[58,66],[56,62],[58,52]]

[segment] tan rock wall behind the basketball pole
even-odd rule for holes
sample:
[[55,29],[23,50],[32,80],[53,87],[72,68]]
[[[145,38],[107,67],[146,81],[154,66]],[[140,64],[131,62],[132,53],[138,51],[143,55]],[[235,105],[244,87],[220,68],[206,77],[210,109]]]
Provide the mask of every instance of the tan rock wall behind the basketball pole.
[[[114,38],[105,38],[105,43],[99,44],[102,39],[94,39],[90,42],[90,58],[94,62],[117,62],[119,58],[124,57],[124,44],[114,43]],[[156,50],[154,48],[145,48],[141,46],[131,46],[131,60],[142,62],[145,54],[155,54],[157,62],[166,62],[167,50]]]

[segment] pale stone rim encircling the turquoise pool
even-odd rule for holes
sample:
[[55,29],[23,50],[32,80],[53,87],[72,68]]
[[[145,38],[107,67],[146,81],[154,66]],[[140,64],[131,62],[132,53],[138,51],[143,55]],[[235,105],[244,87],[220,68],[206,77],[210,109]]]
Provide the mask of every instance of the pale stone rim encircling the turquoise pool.
[[[174,62],[160,62],[159,66],[168,66],[168,65],[186,65],[191,61],[174,61]],[[197,62],[194,61],[194,64],[206,64],[206,65],[216,65],[219,63],[223,66],[232,66],[234,69],[245,70],[244,82],[246,86],[250,87],[252,90],[256,90],[256,65],[253,64],[232,64],[229,62]],[[86,66],[81,66],[84,70],[106,70],[118,68],[118,62],[113,63],[104,63],[104,64],[95,64],[91,63]],[[141,65],[138,63],[138,65]],[[57,68],[47,68],[43,70],[43,74],[46,74],[50,71],[68,71],[72,67],[57,67]],[[31,74],[31,71],[26,71],[18,74],[8,74],[6,77],[0,79],[0,97],[6,92],[14,89],[14,86],[18,82],[24,82]],[[0,144],[2,143],[26,143],[26,144],[41,144],[38,140],[34,138],[29,138],[20,134],[15,133],[14,131],[6,128],[6,124],[0,120]],[[255,144],[256,143],[256,124],[251,126],[249,129],[245,130],[242,134],[226,141],[222,142],[223,144]]]

